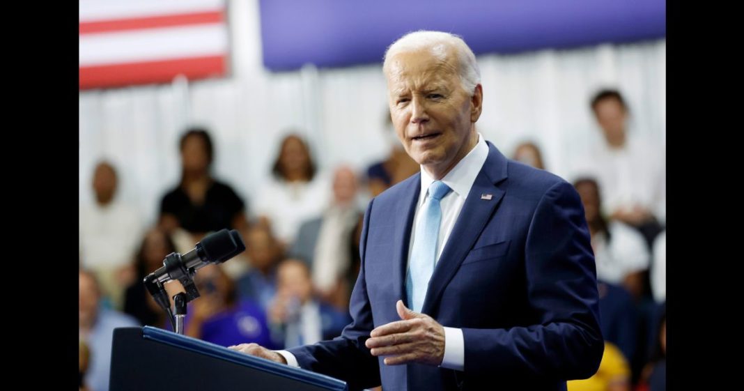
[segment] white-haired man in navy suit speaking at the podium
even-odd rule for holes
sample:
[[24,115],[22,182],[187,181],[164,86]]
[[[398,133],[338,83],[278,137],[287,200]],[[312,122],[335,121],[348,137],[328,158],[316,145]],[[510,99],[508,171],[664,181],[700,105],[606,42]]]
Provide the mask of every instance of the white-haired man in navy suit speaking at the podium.
[[233,349],[351,390],[565,390],[589,378],[604,344],[573,186],[475,130],[483,89],[462,39],[407,34],[383,70],[397,136],[421,171],[369,203],[353,321],[288,352]]

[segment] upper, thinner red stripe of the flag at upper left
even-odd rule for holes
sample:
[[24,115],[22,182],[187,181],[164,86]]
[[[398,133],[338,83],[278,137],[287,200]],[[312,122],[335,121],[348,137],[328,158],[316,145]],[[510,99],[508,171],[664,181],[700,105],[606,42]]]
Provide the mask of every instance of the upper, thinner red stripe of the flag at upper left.
[[184,25],[205,25],[224,21],[222,10],[200,13],[181,13],[144,18],[110,19],[96,22],[80,22],[80,35],[110,33],[112,31],[141,30]]

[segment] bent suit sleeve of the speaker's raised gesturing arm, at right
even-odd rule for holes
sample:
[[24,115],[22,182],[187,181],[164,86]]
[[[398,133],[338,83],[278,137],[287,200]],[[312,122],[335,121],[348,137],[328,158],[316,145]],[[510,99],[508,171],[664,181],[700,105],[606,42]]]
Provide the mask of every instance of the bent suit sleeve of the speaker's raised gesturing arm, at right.
[[530,310],[539,322],[508,329],[463,328],[465,373],[589,378],[604,350],[597,277],[583,206],[565,181],[543,194],[533,214],[525,278]]

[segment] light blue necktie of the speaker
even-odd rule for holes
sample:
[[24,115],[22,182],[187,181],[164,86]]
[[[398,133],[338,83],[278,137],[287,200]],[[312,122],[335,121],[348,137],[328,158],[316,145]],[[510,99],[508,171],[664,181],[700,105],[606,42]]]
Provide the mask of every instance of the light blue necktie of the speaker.
[[414,245],[411,248],[411,261],[408,263],[408,276],[405,278],[405,293],[408,295],[408,308],[420,312],[429,279],[437,263],[437,238],[442,221],[439,201],[452,191],[443,182],[435,180],[429,185],[429,196],[421,207],[421,218],[416,224]]

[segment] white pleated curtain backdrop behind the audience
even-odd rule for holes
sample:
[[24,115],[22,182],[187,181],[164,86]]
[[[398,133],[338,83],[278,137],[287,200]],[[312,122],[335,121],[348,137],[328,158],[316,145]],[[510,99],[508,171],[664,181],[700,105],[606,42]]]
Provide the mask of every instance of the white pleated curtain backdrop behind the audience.
[[[161,86],[80,92],[80,203],[92,203],[100,159],[120,174],[118,197],[154,223],[160,197],[179,180],[179,135],[187,124],[214,138],[214,174],[248,200],[269,174],[280,139],[295,130],[323,170],[363,171],[388,151],[382,67],[272,73],[261,65],[257,0],[228,1],[231,76]],[[666,42],[599,45],[478,57],[484,110],[478,130],[511,155],[519,142],[542,148],[549,171],[565,176],[572,156],[600,137],[591,95],[626,96],[634,133],[666,144]]]

